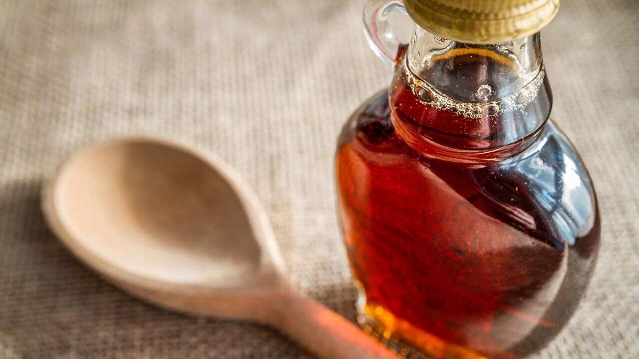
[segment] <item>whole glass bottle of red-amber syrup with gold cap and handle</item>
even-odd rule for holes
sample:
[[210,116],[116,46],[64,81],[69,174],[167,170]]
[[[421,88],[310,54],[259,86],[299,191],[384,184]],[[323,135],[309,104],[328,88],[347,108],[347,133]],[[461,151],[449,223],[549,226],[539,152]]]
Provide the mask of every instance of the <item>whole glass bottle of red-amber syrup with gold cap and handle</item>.
[[[407,358],[522,358],[587,287],[597,199],[549,119],[539,42],[557,7],[393,0],[364,11],[371,47],[396,72],[339,137],[339,217],[358,319]],[[408,45],[391,11],[416,22]]]

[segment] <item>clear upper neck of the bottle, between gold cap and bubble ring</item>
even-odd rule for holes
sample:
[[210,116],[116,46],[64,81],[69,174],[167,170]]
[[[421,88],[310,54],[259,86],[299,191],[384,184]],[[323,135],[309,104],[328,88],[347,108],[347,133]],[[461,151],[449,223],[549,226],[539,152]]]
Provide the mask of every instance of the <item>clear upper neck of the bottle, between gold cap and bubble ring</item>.
[[489,102],[524,88],[542,70],[539,33],[508,43],[474,45],[417,26],[406,53],[417,77],[453,100]]

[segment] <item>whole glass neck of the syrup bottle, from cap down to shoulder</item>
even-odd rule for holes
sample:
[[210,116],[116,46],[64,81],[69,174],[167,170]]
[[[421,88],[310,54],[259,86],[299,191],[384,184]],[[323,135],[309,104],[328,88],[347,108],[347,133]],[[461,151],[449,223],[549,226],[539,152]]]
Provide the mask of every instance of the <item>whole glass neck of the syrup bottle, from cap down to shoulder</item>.
[[397,133],[419,151],[461,160],[512,153],[550,114],[539,34],[474,45],[417,27],[390,101]]

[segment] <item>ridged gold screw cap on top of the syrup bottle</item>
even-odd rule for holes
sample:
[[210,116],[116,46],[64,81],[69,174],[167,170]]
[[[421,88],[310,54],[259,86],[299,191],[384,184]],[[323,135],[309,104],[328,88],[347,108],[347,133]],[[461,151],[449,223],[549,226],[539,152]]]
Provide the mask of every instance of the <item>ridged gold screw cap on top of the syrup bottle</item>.
[[404,0],[419,26],[467,43],[501,43],[539,32],[559,0]]

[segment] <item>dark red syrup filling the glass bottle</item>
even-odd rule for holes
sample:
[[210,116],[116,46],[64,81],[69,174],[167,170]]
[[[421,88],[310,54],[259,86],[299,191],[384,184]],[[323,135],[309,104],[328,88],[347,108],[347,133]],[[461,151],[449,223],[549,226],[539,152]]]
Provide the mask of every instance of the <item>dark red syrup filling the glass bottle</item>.
[[387,93],[367,102],[337,149],[341,224],[364,311],[437,358],[541,348],[587,286],[598,215],[566,241],[535,198],[535,179],[506,164],[544,128],[502,146],[508,121],[429,108],[396,79],[391,105]]

